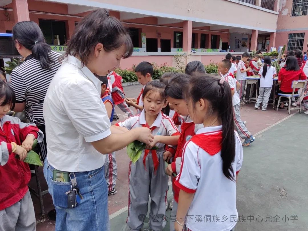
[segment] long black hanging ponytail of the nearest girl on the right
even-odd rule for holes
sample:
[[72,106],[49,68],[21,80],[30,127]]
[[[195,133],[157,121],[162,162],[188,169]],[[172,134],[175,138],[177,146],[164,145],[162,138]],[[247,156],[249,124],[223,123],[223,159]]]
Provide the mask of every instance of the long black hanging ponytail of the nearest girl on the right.
[[223,137],[221,144],[222,172],[228,179],[234,180],[232,167],[235,158],[233,106],[230,86],[226,81],[221,84],[221,103],[218,110],[222,123]]

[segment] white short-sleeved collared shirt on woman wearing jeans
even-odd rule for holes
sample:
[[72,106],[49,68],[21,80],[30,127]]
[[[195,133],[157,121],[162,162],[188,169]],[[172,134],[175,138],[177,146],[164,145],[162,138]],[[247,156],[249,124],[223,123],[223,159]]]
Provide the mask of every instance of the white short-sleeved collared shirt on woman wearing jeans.
[[68,56],[52,79],[43,105],[47,159],[54,168],[84,172],[105,163],[105,155],[90,143],[111,134],[100,91],[99,79]]

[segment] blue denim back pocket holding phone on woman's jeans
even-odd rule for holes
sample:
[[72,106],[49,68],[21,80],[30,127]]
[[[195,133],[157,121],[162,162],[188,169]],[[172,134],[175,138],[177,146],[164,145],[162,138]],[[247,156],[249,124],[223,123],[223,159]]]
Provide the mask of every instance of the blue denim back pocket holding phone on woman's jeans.
[[57,208],[67,209],[66,192],[71,190],[71,182],[58,182],[50,179],[52,188],[52,200]]

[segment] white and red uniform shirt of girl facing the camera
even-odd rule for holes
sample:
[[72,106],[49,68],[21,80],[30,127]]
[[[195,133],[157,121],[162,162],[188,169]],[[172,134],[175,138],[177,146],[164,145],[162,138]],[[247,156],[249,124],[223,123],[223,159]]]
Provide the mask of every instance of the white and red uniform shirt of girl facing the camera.
[[[140,114],[129,117],[123,122],[115,124],[116,126],[127,128],[131,130],[132,128],[147,127],[152,131],[152,135],[156,136],[179,136],[180,132],[176,128],[175,124],[170,117],[163,114],[162,112],[157,115],[156,120],[151,127],[148,126],[145,121],[145,110],[143,109]],[[157,148],[163,148],[165,144],[157,143],[155,145]]]

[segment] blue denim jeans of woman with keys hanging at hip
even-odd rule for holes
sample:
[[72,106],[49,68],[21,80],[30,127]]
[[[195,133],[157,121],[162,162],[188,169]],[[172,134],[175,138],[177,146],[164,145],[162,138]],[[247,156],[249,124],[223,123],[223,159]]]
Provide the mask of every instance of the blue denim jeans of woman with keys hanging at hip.
[[104,166],[93,171],[75,172],[83,200],[69,209],[65,193],[71,189],[71,182],[53,181],[53,169],[46,159],[44,176],[57,212],[55,231],[110,231]]

